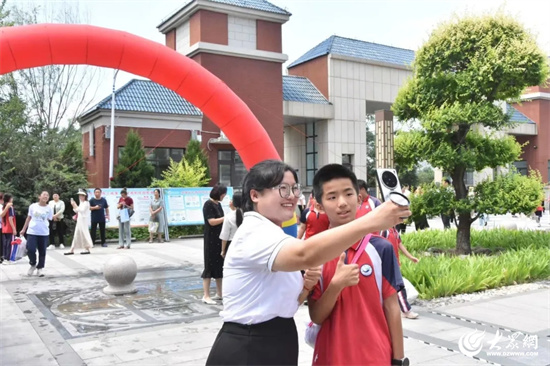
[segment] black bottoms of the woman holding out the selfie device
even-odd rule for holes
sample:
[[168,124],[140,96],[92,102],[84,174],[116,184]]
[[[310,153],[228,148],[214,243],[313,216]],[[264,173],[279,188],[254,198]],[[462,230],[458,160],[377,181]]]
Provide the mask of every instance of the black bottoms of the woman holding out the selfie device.
[[206,365],[297,365],[298,331],[293,318],[245,325],[224,323]]

